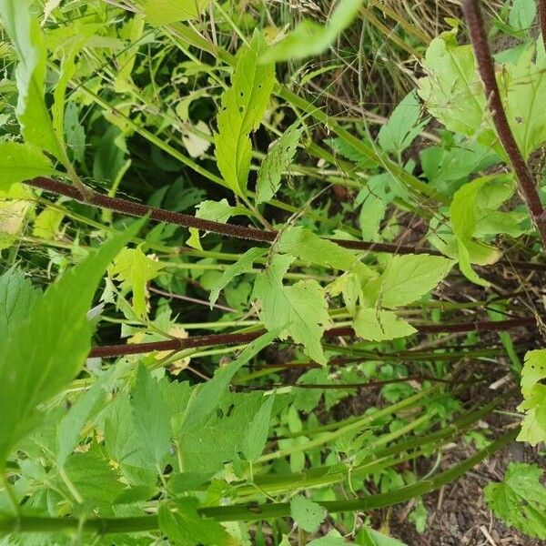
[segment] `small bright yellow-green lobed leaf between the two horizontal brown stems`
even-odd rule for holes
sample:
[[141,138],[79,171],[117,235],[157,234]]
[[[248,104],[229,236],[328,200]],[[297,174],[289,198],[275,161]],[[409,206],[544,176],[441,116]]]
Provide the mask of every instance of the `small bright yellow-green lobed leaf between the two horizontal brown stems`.
[[147,316],[147,282],[156,278],[164,264],[147,258],[138,248],[124,248],[108,269],[111,277],[121,281],[121,288],[133,292],[133,308],[140,317]]

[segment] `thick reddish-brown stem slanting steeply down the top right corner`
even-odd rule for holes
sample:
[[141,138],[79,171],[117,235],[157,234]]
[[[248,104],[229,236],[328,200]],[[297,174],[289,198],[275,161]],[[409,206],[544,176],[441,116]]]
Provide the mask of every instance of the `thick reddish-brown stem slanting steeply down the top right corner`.
[[495,76],[495,66],[490,54],[490,46],[481,14],[480,0],[463,0],[461,5],[469,25],[470,40],[485,88],[493,124],[497,129],[502,147],[510,159],[516,177],[518,177],[521,198],[525,201],[531,212],[532,221],[541,235],[542,247],[546,249],[546,215],[541,204],[539,192],[531,177],[531,171],[521,155],[520,147],[518,147],[511,132],[506,112],[502,106],[501,93]]

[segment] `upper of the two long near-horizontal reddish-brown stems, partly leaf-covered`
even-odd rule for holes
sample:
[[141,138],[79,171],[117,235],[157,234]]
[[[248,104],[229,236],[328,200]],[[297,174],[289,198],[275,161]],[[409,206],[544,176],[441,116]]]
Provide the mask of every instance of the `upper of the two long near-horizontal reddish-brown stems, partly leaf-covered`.
[[[232,238],[242,238],[261,243],[272,243],[278,236],[277,231],[267,231],[257,229],[256,227],[234,226],[233,224],[222,224],[213,220],[192,217],[187,214],[165,210],[163,208],[148,207],[142,203],[129,201],[120,197],[108,197],[96,191],[90,190],[87,197],[77,190],[76,187],[69,186],[53,178],[37,177],[33,180],[25,181],[25,184],[32,187],[38,187],[45,191],[55,193],[60,196],[70,197],[81,203],[93,205],[95,207],[107,208],[121,214],[132,217],[149,216],[158,222],[166,222],[182,227],[196,227],[202,231],[210,231],[219,235],[225,235]],[[403,245],[393,245],[389,243],[373,243],[368,241],[353,241],[348,239],[329,239],[343,248],[353,250],[373,250],[374,252],[387,252],[389,254],[430,254],[441,256],[440,252],[427,248],[415,248]]]

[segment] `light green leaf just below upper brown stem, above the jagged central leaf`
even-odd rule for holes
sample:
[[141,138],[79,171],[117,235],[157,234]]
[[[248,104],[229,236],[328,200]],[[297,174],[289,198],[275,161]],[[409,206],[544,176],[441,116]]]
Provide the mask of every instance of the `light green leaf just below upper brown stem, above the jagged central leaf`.
[[333,241],[320,238],[306,227],[287,227],[278,238],[278,252],[317,264],[325,268],[353,271],[360,281],[377,277],[364,265],[354,250],[342,248]]

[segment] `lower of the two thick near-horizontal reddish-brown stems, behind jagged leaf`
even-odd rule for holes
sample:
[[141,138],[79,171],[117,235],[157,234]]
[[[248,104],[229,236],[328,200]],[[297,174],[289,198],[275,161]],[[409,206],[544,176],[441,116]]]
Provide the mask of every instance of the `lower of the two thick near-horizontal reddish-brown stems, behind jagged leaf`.
[[[416,329],[421,334],[435,333],[457,333],[457,332],[487,332],[503,331],[507,329],[518,328],[521,326],[531,326],[535,324],[535,319],[521,317],[519,319],[509,320],[483,320],[480,322],[456,323],[456,324],[427,324],[417,326]],[[155,350],[182,350],[197,349],[199,347],[216,347],[221,345],[240,345],[250,343],[264,333],[264,330],[247,333],[234,334],[212,334],[210,336],[193,336],[184,339],[166,339],[165,341],[150,341],[148,343],[131,343],[124,345],[106,345],[95,347],[89,352],[89,357],[120,357],[124,355],[136,355],[148,353]],[[341,336],[352,337],[355,331],[350,327],[340,327],[328,329],[324,332],[325,338],[336,338]]]

